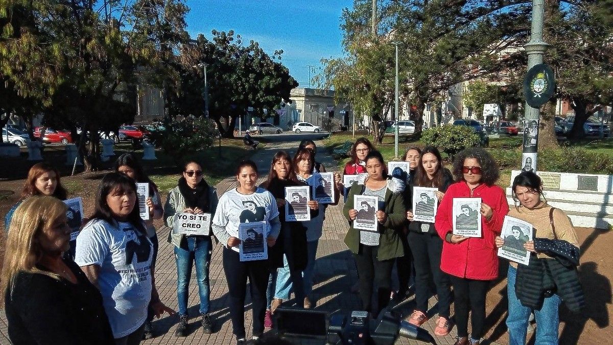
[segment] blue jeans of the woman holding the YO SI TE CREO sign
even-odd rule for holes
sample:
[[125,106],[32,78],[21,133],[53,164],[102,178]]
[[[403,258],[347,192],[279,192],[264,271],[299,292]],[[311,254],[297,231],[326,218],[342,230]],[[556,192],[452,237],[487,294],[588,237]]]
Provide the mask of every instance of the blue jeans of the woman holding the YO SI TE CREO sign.
[[[188,314],[188,287],[191,270],[196,263],[196,279],[200,294],[200,314],[208,314],[209,296],[208,267],[211,262],[211,238],[209,236],[186,236],[181,248],[175,246],[177,261],[177,299],[179,315]],[[185,247],[183,247],[185,245]]]

